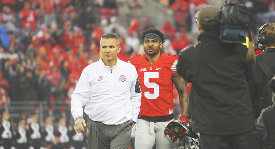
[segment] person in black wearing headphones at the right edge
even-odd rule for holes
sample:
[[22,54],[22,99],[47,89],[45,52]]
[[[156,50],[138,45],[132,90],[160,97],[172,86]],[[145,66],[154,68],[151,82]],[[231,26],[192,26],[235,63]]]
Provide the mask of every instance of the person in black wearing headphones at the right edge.
[[256,55],[256,64],[249,67],[248,81],[254,116],[257,119],[263,108],[272,105],[270,79],[275,74],[275,23],[259,28],[258,43],[264,52]]

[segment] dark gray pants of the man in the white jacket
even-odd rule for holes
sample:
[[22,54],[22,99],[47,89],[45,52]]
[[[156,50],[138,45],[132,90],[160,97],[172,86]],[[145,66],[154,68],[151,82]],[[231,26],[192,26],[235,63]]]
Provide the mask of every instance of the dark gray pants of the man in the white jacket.
[[105,125],[87,120],[87,143],[89,149],[128,149],[133,121],[119,125]]

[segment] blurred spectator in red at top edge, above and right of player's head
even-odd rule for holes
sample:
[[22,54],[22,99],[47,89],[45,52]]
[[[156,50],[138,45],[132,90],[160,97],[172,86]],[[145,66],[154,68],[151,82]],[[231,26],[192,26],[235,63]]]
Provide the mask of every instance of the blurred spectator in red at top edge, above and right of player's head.
[[186,17],[189,13],[189,2],[185,0],[176,0],[170,6],[174,11],[177,27],[186,26]]

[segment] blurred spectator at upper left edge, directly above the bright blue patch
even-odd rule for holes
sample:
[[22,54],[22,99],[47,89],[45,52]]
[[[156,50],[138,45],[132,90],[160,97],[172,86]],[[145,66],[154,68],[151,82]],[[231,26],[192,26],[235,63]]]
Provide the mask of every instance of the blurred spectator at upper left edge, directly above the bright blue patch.
[[9,6],[5,5],[3,7],[3,11],[0,15],[0,20],[2,25],[6,26],[7,32],[15,31],[16,18],[15,18],[15,15],[11,12],[11,9]]

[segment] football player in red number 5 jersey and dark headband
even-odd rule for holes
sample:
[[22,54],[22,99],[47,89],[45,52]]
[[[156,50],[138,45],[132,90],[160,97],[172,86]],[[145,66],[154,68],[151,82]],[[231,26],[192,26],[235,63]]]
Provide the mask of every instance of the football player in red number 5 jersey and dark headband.
[[177,74],[177,55],[161,53],[164,34],[157,29],[142,33],[145,54],[132,56],[128,63],[136,67],[142,97],[135,136],[136,149],[172,149],[172,141],[164,138],[165,126],[174,119],[173,83],[179,93],[181,120],[187,123],[188,95],[186,82]]

